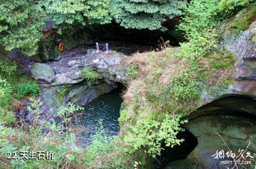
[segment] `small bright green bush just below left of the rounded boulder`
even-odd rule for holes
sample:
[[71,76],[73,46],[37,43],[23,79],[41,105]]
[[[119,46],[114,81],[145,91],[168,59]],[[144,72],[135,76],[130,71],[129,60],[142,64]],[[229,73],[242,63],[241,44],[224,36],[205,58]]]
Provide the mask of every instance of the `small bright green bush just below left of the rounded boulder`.
[[18,83],[14,85],[16,98],[25,98],[28,95],[36,97],[40,93],[39,84],[36,81],[27,81],[26,83]]

